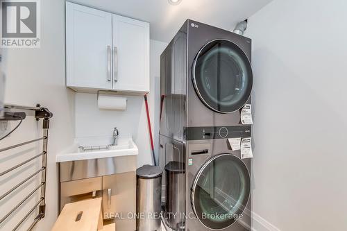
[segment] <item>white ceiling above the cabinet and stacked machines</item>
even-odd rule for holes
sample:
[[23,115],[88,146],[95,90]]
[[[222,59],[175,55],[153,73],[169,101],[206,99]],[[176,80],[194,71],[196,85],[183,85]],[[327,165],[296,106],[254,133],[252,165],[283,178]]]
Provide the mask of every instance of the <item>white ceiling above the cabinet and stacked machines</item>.
[[232,29],[272,0],[69,0],[151,24],[151,39],[169,42],[186,19]]

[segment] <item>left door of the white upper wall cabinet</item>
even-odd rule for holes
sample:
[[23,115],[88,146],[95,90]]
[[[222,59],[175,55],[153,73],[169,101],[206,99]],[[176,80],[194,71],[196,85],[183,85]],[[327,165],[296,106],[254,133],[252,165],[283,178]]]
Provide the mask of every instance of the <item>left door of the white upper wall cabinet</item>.
[[66,3],[68,87],[112,89],[112,14]]

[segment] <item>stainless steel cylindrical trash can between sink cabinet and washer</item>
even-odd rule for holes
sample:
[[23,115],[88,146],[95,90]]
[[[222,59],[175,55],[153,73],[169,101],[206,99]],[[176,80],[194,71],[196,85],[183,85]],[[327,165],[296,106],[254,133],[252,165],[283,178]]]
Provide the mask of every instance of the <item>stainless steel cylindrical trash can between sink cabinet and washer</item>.
[[160,231],[162,169],[144,165],[137,169],[137,231]]

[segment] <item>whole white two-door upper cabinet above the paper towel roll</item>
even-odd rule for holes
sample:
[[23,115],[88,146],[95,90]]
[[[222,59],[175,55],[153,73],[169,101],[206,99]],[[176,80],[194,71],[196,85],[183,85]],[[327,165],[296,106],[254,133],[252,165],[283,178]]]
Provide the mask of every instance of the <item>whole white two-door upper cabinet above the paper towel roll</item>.
[[67,87],[120,94],[149,92],[149,24],[66,5]]

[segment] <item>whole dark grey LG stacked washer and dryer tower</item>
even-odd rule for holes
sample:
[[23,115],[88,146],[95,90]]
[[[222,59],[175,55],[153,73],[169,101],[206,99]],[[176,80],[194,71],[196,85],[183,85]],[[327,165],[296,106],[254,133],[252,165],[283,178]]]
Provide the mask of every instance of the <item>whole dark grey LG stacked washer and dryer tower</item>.
[[251,160],[228,139],[251,137],[251,40],[187,20],[160,56],[164,224],[251,230]]

